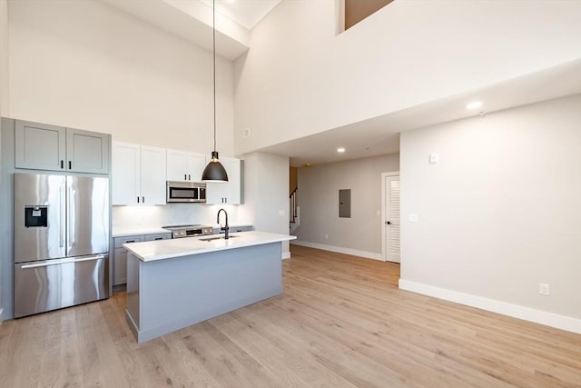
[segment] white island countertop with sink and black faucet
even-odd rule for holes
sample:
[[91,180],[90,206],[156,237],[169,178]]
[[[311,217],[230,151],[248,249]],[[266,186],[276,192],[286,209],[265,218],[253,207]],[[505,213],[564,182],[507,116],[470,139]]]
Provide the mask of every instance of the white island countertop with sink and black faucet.
[[278,243],[297,238],[289,234],[272,234],[258,231],[238,232],[231,234],[230,237],[228,240],[225,240],[223,235],[210,234],[200,237],[123,244],[123,247],[137,256],[141,261],[152,262],[191,254],[205,254],[241,248],[243,246]]

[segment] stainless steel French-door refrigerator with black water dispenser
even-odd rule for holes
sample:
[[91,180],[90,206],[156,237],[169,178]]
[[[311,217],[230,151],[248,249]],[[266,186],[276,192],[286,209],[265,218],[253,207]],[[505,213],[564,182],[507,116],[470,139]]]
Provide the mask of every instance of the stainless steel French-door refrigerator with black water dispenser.
[[15,317],[109,296],[109,178],[15,174]]

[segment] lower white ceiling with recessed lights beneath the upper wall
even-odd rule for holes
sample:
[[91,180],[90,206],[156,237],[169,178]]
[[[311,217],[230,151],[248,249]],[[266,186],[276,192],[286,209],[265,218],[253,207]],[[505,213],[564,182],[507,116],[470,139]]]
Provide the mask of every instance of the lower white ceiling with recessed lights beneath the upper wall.
[[[399,133],[428,125],[581,93],[581,59],[486,88],[452,95],[392,114],[261,149],[286,155],[291,165],[323,164],[399,152]],[[482,101],[476,111],[466,104]],[[581,109],[581,106],[579,107]],[[345,153],[338,154],[337,148]]]

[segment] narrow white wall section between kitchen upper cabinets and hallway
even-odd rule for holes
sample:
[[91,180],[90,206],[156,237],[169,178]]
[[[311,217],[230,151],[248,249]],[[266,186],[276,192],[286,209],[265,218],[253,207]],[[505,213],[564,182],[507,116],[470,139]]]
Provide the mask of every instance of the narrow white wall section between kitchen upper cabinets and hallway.
[[[244,155],[241,219],[262,232],[289,234],[289,158],[266,153]],[[290,257],[289,243],[282,243]]]

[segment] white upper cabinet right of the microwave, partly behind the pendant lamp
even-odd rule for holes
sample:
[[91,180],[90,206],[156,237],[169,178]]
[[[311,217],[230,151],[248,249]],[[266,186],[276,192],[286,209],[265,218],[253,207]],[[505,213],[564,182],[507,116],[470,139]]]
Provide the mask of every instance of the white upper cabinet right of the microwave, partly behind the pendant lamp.
[[[206,163],[212,159],[206,155]],[[228,182],[207,184],[206,204],[241,204],[241,161],[231,157],[221,157],[220,162],[228,174]]]

